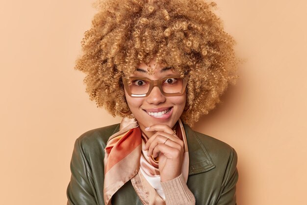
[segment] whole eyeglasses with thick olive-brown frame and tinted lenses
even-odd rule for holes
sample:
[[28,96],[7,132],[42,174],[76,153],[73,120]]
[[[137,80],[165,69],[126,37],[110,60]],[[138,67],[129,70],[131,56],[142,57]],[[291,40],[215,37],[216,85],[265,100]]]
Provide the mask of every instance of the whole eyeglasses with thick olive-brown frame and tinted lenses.
[[174,75],[157,80],[147,77],[123,77],[123,83],[131,97],[149,96],[154,86],[158,86],[164,96],[179,96],[185,91],[187,77]]

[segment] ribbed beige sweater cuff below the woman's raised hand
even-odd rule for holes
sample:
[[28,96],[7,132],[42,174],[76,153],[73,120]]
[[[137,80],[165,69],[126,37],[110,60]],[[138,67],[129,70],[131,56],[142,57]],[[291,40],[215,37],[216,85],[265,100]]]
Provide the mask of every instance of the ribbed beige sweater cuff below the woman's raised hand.
[[195,205],[195,197],[189,190],[182,174],[177,178],[161,182],[167,205]]

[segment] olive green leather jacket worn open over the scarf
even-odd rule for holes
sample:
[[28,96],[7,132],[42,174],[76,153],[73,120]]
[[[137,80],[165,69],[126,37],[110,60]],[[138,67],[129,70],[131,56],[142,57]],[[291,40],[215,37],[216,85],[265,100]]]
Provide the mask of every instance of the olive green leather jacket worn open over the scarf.
[[[197,205],[235,205],[237,155],[226,143],[183,125],[189,150],[187,186]],[[103,157],[119,124],[85,132],[75,142],[67,205],[104,205]],[[121,174],[121,173],[118,173]],[[112,205],[142,205],[130,181],[112,197]]]

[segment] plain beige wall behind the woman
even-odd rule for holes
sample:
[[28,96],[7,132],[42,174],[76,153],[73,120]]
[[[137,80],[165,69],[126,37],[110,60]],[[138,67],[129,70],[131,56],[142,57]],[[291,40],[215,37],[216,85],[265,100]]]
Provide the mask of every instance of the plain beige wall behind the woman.
[[[88,100],[73,69],[93,0],[0,3],[0,199],[64,205],[75,139],[118,123]],[[307,184],[307,3],[218,0],[249,60],[196,130],[238,153],[239,205],[302,205]]]

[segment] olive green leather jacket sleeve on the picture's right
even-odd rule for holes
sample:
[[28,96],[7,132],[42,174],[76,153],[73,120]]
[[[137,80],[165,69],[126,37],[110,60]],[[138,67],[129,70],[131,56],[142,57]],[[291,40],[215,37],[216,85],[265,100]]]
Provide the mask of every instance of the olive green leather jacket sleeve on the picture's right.
[[222,192],[217,201],[217,205],[236,205],[236,183],[238,181],[237,154],[232,149],[228,160],[226,172],[222,184]]

